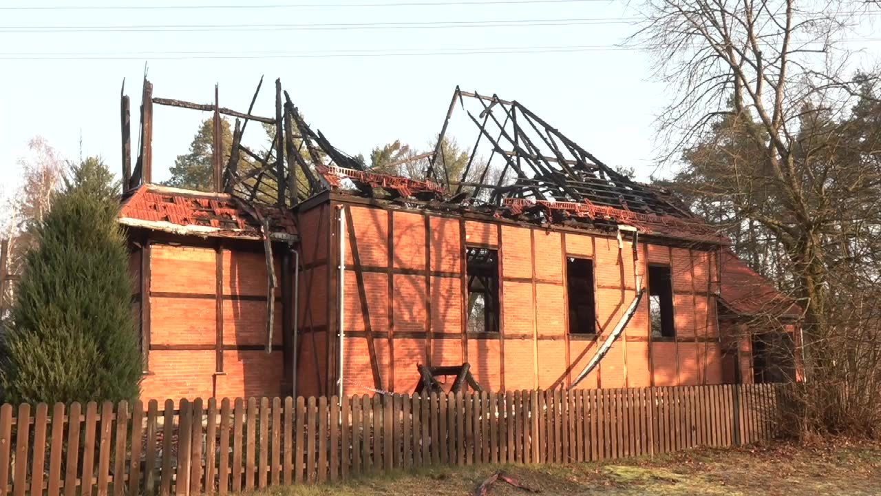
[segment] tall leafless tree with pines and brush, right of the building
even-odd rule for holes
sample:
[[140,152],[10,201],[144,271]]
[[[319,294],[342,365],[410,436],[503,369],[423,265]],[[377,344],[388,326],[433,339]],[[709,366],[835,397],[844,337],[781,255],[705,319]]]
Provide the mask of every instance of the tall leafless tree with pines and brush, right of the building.
[[881,105],[844,44],[870,5],[648,0],[633,37],[672,183],[804,309],[802,432],[881,434]]

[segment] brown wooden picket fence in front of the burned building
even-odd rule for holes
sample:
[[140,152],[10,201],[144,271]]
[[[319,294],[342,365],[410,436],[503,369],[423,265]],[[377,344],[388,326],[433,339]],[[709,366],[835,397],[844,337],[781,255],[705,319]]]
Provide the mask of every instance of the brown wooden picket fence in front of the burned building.
[[[239,492],[770,440],[780,385],[0,407],[0,496]],[[84,411],[85,410],[85,411]]]

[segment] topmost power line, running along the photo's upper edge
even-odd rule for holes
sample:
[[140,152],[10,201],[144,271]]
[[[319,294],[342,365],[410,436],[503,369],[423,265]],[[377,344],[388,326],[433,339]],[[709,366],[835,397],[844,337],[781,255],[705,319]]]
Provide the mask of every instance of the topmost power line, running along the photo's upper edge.
[[203,9],[312,9],[346,7],[435,7],[447,5],[496,5],[496,4],[576,4],[606,2],[609,0],[477,0],[474,2],[383,2],[377,4],[234,4],[234,5],[21,5],[0,7],[0,11],[161,11]]

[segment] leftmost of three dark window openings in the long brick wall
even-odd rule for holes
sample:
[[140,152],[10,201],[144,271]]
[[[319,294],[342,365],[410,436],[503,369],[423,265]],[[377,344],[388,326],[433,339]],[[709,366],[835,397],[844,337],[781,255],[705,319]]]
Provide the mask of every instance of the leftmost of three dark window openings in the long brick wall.
[[468,332],[499,332],[499,252],[465,250],[468,276]]

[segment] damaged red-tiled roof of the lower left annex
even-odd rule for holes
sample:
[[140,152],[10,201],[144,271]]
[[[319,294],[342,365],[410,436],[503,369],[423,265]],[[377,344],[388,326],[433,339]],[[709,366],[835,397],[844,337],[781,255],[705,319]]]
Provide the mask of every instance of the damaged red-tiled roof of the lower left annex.
[[[270,233],[296,235],[293,214],[273,207],[252,206]],[[144,229],[208,237],[262,237],[255,215],[226,193],[196,192],[144,184],[122,200],[120,222]]]

